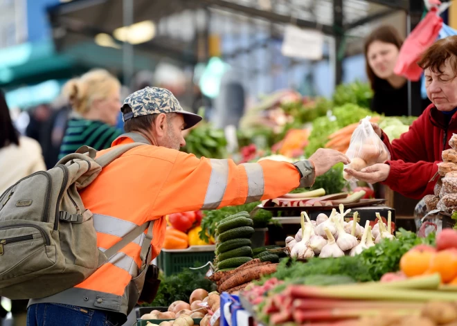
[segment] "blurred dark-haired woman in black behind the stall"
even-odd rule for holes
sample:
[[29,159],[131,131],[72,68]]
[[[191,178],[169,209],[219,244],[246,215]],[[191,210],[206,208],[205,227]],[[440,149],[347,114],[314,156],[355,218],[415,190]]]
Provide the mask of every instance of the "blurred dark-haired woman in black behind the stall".
[[[380,26],[366,38],[366,74],[374,92],[370,109],[378,114],[409,115],[408,80],[393,73],[403,41],[393,26]],[[412,82],[411,87],[420,89],[420,82]],[[422,110],[429,104],[429,99],[420,101]]]

